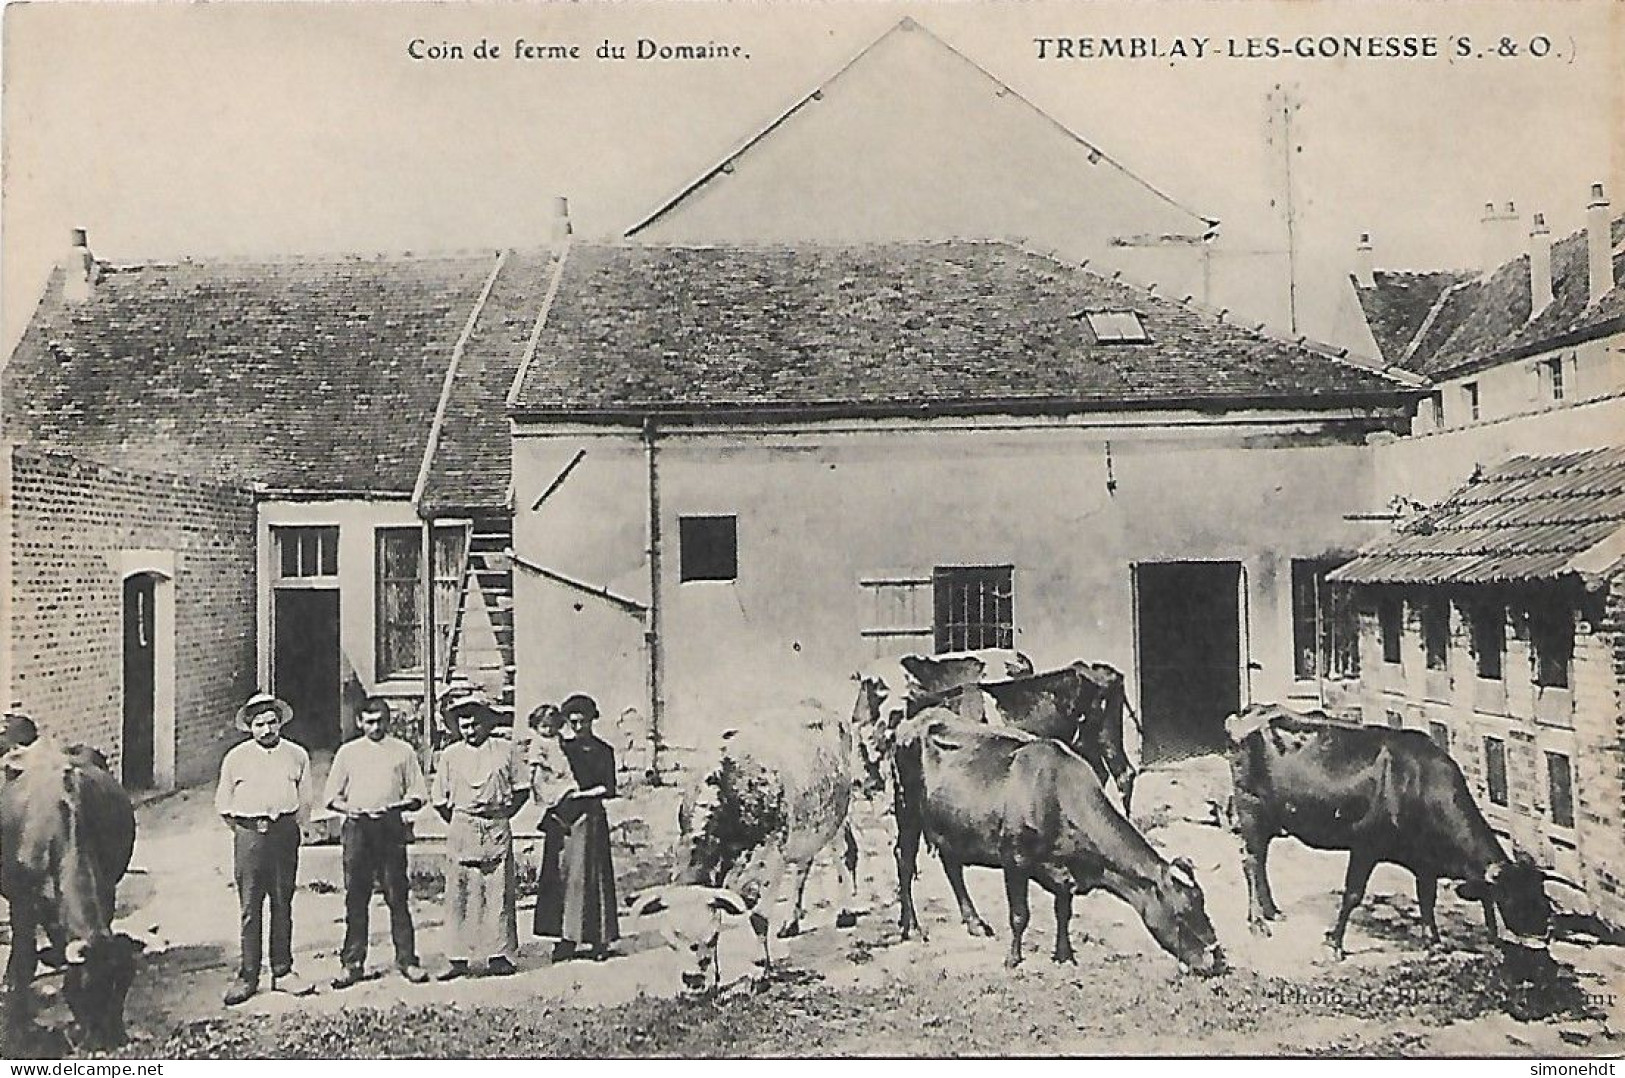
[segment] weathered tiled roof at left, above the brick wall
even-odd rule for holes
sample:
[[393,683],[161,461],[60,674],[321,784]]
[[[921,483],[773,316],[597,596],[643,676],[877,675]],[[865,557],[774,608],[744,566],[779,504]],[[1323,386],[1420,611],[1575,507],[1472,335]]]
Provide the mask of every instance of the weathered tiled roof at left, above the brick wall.
[[3,374],[6,436],[278,489],[410,494],[494,255],[60,272]]

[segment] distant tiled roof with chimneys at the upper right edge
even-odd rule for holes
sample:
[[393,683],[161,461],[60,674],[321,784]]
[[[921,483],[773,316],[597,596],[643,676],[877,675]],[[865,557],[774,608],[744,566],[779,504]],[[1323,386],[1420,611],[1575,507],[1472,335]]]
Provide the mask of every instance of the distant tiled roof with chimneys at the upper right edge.
[[1625,218],[1614,220],[1610,242],[1615,285],[1599,302],[1591,302],[1581,229],[1552,244],[1552,302],[1537,317],[1529,317],[1529,255],[1519,255],[1488,276],[1456,275],[1454,283],[1435,293],[1398,354],[1389,354],[1389,348],[1415,320],[1417,281],[1433,278],[1428,283],[1433,288],[1448,275],[1378,273],[1376,288],[1358,289],[1360,306],[1389,363],[1433,379],[1464,374],[1625,325],[1625,252],[1620,252]]

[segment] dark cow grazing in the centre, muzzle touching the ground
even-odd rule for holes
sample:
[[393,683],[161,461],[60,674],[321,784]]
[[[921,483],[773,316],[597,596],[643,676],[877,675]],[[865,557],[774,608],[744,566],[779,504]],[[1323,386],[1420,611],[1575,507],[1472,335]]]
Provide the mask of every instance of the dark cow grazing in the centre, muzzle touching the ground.
[[1004,872],[1011,919],[1006,966],[1020,963],[1027,885],[1035,880],[1055,898],[1058,963],[1072,961],[1072,896],[1103,888],[1139,912],[1181,967],[1204,974],[1224,967],[1190,862],[1159,857],[1072,750],[928,709],[897,727],[892,764],[905,937],[920,928],[912,881],[925,837],[973,935],[991,935],[991,928],[965,889],[965,865]]

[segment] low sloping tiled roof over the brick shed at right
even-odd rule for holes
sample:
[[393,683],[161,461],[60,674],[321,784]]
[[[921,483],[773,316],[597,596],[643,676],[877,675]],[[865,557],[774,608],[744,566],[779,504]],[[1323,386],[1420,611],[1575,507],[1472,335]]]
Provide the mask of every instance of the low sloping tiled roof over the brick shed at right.
[[1331,574],[1346,584],[1602,576],[1625,559],[1625,447],[1514,457]]

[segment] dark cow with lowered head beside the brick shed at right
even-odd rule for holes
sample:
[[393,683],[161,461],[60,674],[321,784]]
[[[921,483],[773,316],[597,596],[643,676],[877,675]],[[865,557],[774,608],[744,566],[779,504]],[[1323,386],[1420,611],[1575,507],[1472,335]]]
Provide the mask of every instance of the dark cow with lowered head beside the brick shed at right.
[[1268,922],[1280,917],[1266,858],[1269,841],[1290,834],[1316,849],[1349,850],[1337,924],[1326,933],[1339,958],[1349,914],[1380,862],[1415,875],[1430,943],[1440,938],[1433,899],[1441,878],[1459,880],[1458,894],[1484,902],[1492,937],[1497,907],[1516,935],[1544,941],[1550,933],[1542,872],[1506,857],[1456,761],[1425,733],[1344,727],[1277,704],[1230,715],[1225,732],[1254,932],[1268,933]]

